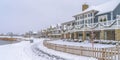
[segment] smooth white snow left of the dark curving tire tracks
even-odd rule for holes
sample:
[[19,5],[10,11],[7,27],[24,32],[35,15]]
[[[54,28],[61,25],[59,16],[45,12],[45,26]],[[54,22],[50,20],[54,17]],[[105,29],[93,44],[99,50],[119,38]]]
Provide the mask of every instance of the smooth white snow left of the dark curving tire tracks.
[[[35,43],[39,41],[35,41]],[[0,45],[0,60],[46,60],[34,54],[31,50],[31,46],[35,43],[22,41],[14,44]]]

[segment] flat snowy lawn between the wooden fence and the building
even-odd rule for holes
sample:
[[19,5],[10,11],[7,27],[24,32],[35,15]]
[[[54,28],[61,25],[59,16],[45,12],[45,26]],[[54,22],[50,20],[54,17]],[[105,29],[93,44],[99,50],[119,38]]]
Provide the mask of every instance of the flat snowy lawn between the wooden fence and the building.
[[[63,40],[54,40],[49,42],[54,44],[61,44],[61,45],[92,47],[92,44],[88,42],[68,42]],[[114,47],[114,46],[115,45],[94,43],[94,47],[96,48],[107,48],[107,47]]]

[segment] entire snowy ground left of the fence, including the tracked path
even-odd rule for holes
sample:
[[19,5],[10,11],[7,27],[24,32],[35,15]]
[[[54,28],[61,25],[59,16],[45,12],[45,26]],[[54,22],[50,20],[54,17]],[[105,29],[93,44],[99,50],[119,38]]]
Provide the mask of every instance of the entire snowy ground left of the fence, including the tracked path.
[[[56,57],[64,58],[65,60],[96,60],[90,57],[54,51],[43,46],[44,39],[32,39],[34,43],[22,41],[15,44],[0,45],[0,60],[58,60]],[[34,48],[38,48],[42,52]],[[47,56],[46,54],[55,57]]]

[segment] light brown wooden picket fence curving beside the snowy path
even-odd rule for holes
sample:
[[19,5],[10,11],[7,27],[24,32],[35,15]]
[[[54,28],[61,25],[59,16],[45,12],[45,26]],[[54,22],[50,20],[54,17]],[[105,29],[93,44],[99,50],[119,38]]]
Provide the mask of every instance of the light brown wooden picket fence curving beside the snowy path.
[[94,57],[97,58],[98,60],[120,60],[120,46],[108,48],[92,48],[53,44],[47,41],[49,40],[45,40],[43,42],[44,46],[53,50],[80,56]]

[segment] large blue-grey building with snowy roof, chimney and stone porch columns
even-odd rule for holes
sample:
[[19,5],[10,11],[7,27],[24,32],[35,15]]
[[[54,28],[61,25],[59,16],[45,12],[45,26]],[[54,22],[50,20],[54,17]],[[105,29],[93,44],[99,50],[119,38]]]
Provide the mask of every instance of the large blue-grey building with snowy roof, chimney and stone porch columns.
[[90,7],[84,4],[82,12],[73,17],[62,23],[64,39],[89,40],[94,31],[97,40],[120,40],[120,0]]

